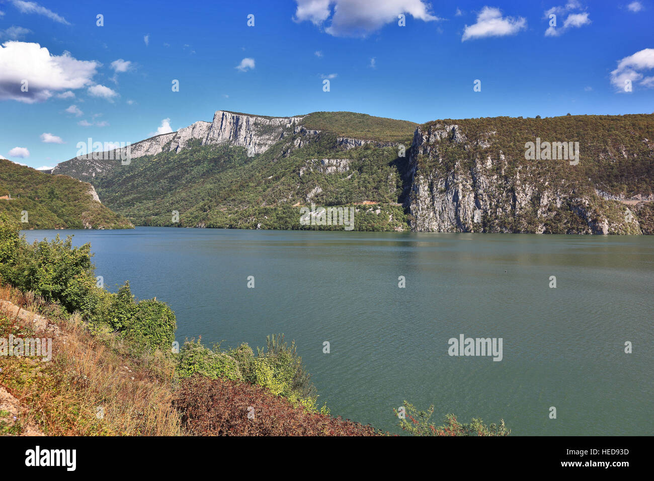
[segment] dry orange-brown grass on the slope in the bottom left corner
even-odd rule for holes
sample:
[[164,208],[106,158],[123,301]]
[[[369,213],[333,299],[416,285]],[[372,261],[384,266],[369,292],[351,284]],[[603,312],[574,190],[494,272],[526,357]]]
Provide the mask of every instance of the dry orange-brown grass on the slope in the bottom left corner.
[[[52,361],[0,356],[0,384],[22,406],[22,423],[46,435],[180,435],[173,364],[165,355],[131,357],[114,336],[92,336],[78,316],[32,293],[0,287],[9,300],[50,319],[44,331],[0,313],[0,336],[52,337]],[[97,416],[102,409],[101,418]]]

